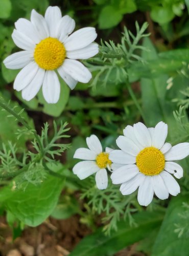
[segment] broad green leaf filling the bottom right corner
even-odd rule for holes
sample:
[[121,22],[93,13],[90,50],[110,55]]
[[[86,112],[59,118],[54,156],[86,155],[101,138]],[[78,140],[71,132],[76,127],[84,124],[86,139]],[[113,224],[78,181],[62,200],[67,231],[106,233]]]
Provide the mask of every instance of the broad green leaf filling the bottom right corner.
[[175,232],[175,224],[178,222],[183,226],[188,225],[188,218],[180,218],[180,215],[184,214],[183,202],[189,203],[188,194],[172,198],[154,244],[152,256],[188,255],[188,237],[178,238],[178,233]]

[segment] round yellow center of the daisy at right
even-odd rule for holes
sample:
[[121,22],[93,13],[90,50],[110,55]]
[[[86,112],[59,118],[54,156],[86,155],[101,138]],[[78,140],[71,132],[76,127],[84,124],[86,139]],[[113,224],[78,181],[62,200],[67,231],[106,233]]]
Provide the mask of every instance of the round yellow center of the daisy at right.
[[145,175],[159,174],[162,172],[164,164],[164,155],[153,146],[144,148],[136,157],[136,165],[139,171]]

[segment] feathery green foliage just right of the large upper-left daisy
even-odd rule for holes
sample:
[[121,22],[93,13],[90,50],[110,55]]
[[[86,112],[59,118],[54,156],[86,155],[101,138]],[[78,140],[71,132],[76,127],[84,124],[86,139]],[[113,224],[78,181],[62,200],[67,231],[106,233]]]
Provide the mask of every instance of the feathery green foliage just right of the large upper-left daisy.
[[128,79],[128,69],[133,62],[143,62],[138,51],[147,50],[139,45],[139,41],[143,37],[149,36],[145,33],[148,24],[139,28],[136,22],[136,35],[133,35],[125,27],[121,44],[115,45],[113,41],[101,41],[99,57],[93,57],[85,61],[85,65],[90,71],[95,73],[95,77],[91,82],[91,86],[106,86],[109,83],[119,84],[125,83]]

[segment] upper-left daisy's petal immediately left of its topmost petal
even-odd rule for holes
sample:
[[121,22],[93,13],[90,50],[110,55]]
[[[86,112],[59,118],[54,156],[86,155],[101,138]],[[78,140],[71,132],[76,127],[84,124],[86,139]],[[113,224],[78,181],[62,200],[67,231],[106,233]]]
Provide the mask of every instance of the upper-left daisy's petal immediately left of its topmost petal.
[[31,22],[35,27],[35,29],[37,30],[41,40],[46,37],[49,37],[48,25],[46,24],[44,17],[40,15],[38,12],[36,12],[35,10],[32,10]]

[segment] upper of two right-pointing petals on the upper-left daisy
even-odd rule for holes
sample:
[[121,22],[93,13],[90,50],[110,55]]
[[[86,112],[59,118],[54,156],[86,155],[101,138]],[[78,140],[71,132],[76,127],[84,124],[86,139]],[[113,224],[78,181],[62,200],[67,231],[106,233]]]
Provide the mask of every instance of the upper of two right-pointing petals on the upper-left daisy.
[[82,28],[70,35],[64,42],[66,51],[82,49],[97,38],[95,28]]

